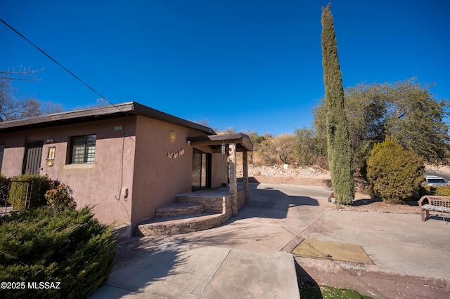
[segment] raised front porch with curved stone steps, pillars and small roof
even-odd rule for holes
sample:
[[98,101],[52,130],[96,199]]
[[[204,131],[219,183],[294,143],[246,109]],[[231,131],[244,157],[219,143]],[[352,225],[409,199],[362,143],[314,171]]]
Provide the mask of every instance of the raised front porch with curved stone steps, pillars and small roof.
[[[210,152],[227,154],[229,186],[178,194],[175,202],[155,210],[155,218],[136,225],[135,236],[186,234],[207,230],[226,222],[249,201],[248,151],[253,149],[248,135],[234,133],[187,138],[188,145],[207,146]],[[238,185],[236,152],[243,152],[243,182]]]

